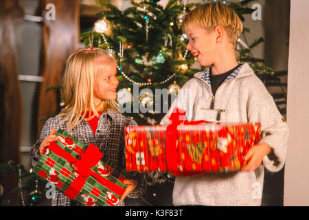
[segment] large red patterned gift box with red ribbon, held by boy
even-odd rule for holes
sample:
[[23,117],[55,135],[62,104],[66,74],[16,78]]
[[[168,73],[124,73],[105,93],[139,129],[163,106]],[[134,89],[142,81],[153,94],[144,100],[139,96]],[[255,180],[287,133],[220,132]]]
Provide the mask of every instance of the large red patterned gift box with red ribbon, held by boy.
[[187,122],[172,114],[168,126],[126,127],[127,171],[238,171],[246,165],[249,148],[260,141],[260,123]]

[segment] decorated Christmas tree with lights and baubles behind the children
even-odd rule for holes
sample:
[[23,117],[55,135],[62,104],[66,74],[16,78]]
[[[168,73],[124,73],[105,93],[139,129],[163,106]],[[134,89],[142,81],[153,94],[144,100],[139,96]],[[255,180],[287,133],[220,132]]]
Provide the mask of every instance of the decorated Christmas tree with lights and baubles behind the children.
[[[228,4],[244,21],[243,15],[254,11],[247,6],[251,1]],[[132,7],[121,11],[106,1],[98,1],[106,10],[98,14],[101,19],[94,23],[93,31],[82,33],[80,40],[89,47],[108,50],[117,61],[120,111],[138,124],[159,124],[177,91],[193,74],[203,70],[186,50],[187,37],[181,30],[182,17],[200,3],[170,0],[163,8],[153,0],[130,2]],[[249,29],[244,28],[244,39],[247,32]],[[260,38],[247,45],[238,39],[238,61],[249,63],[266,86],[285,86],[279,79],[285,73],[276,73],[264,65],[263,59],[252,55],[253,48],[263,41]],[[159,96],[156,91],[160,91]]]

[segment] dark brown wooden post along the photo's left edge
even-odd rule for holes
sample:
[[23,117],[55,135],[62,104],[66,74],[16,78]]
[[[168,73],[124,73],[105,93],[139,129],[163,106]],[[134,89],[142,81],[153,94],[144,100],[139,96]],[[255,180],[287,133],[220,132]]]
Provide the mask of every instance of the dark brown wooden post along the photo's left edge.
[[[18,80],[19,65],[14,27],[21,21],[21,1],[0,1],[0,162],[20,162],[22,103]],[[8,172],[1,177],[4,188],[3,201],[10,199],[16,205],[17,194],[10,190],[17,187],[17,173]]]

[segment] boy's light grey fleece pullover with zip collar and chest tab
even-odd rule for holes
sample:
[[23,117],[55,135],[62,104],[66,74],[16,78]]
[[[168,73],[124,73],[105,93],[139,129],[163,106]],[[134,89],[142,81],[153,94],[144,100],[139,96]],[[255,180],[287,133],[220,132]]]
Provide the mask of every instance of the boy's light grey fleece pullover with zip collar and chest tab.
[[280,115],[273,97],[247,63],[240,67],[238,74],[232,73],[234,76],[228,77],[218,87],[215,96],[210,81],[201,78],[203,73],[194,74],[194,78],[183,85],[160,124],[170,124],[169,117],[175,107],[186,111],[187,120],[261,122],[262,140],[259,143],[266,142],[272,151],[264,156],[263,166],[252,172],[176,177],[174,206],[260,206],[264,167],[277,172],[284,166],[288,125]]

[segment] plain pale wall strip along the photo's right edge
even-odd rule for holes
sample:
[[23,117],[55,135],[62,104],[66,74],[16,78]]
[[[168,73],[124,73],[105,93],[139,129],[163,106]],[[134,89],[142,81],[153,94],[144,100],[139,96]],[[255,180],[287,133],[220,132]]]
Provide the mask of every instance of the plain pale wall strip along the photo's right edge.
[[309,1],[290,1],[284,206],[309,206]]

